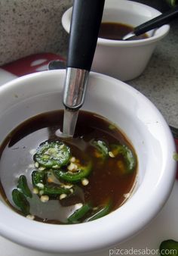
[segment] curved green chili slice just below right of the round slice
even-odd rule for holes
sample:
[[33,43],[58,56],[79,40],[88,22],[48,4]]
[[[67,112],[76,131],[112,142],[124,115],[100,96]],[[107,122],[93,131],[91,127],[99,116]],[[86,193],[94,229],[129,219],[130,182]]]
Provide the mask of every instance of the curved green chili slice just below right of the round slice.
[[53,170],[57,179],[65,180],[69,183],[77,183],[81,179],[87,177],[91,173],[92,164],[91,161],[85,167],[78,167],[78,171],[75,173],[64,170]]

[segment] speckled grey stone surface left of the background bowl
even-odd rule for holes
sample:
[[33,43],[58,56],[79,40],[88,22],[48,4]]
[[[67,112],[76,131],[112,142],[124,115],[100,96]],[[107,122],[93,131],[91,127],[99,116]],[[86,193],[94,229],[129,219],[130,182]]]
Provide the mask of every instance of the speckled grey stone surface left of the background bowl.
[[[136,2],[165,11],[170,8],[165,1]],[[39,52],[66,56],[61,17],[70,6],[72,0],[0,0],[0,65]]]

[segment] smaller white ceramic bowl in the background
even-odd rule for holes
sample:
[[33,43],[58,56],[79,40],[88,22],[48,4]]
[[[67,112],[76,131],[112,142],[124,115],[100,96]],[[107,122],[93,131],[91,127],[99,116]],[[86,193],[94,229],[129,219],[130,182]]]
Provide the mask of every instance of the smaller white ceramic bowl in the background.
[[[103,22],[130,24],[137,27],[141,23],[160,15],[155,8],[127,0],[106,0]],[[72,8],[62,17],[64,29],[69,33]],[[140,76],[145,70],[157,43],[167,35],[169,25],[150,31],[148,39],[119,41],[99,38],[94,55],[92,70],[126,81]],[[86,31],[87,33],[87,31]]]

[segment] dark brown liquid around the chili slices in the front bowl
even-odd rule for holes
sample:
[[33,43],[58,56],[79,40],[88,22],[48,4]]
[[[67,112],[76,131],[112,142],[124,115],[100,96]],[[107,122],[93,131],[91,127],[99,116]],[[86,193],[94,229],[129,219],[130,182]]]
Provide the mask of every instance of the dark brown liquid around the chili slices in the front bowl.
[[[3,198],[14,209],[11,192],[17,187],[17,180],[21,174],[26,175],[29,188],[32,190],[31,173],[33,155],[30,152],[37,148],[41,142],[48,139],[59,139],[55,132],[62,130],[63,111],[52,111],[26,120],[17,126],[5,139],[0,147],[0,190]],[[114,128],[114,129],[113,129]],[[118,208],[125,201],[124,194],[133,189],[137,176],[137,166],[132,173],[123,175],[117,167],[118,158],[109,158],[106,164],[101,164],[94,158],[94,148],[91,147],[93,139],[102,139],[108,145],[121,143],[132,149],[125,136],[116,126],[97,114],[80,111],[78,123],[73,139],[60,139],[72,148],[72,155],[83,158],[90,155],[94,170],[88,177],[89,184],[77,184],[75,194],[63,200],[49,200],[43,203],[38,195],[28,199],[30,213],[35,220],[46,223],[66,223],[66,218],[73,211],[76,203],[91,201],[93,205],[104,204],[109,198],[112,200],[112,210]],[[135,153],[134,153],[135,154]],[[121,159],[120,159],[121,160]],[[56,180],[56,183],[58,181]]]

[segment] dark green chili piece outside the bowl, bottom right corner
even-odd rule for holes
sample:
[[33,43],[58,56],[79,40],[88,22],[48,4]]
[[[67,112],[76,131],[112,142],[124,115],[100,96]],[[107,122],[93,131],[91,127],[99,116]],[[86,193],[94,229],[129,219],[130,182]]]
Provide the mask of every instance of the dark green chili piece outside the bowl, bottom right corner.
[[161,256],[178,256],[178,242],[173,239],[165,240],[161,242],[161,245],[159,246],[159,251]]

